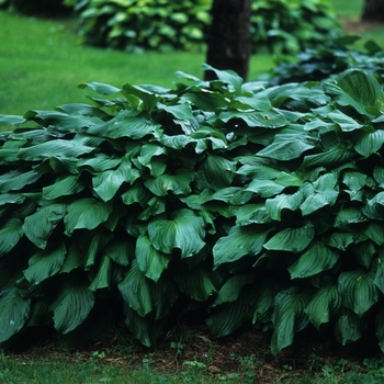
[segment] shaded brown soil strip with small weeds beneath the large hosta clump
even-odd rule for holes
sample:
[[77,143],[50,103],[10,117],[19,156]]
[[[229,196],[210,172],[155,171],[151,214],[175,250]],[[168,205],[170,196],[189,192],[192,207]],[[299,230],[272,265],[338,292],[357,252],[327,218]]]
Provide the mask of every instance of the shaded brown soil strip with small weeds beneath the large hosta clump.
[[[374,332],[371,330],[372,334]],[[295,343],[281,351],[278,357],[271,354],[269,342],[270,335],[256,329],[238,331],[214,340],[205,325],[181,324],[153,351],[142,347],[122,328],[103,341],[81,350],[60,350],[47,338],[36,347],[13,352],[13,357],[23,364],[36,358],[49,361],[65,359],[74,363],[95,359],[100,364],[137,370],[149,366],[165,373],[197,366],[212,375],[227,379],[248,372],[256,383],[266,384],[285,382],[284,379],[287,377],[292,383],[293,376],[298,377],[308,371],[355,371],[357,366],[363,369],[365,359],[382,359],[376,340],[368,337],[341,347],[332,335],[320,335],[314,329],[306,330],[297,334]]]

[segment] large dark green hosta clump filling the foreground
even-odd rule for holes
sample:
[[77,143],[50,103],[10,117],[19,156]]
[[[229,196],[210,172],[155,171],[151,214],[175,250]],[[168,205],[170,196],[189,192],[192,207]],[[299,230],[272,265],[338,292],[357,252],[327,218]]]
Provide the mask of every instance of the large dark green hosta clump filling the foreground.
[[1,342],[124,310],[151,346],[197,308],[214,337],[272,329],[273,353],[326,323],[342,345],[374,325],[384,349],[382,87],[216,74],[1,117],[20,125],[1,135]]

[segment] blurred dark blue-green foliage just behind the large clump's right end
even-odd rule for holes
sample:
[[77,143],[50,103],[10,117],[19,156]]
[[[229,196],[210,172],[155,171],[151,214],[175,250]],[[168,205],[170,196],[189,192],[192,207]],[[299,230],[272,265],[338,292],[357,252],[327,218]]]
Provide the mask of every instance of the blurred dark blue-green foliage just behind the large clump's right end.
[[351,45],[360,39],[359,36],[345,36],[326,41],[323,46],[305,49],[294,60],[283,58],[273,68],[269,82],[319,81],[349,68],[361,68],[383,81],[383,48],[373,41],[368,41],[363,49],[352,48]]

